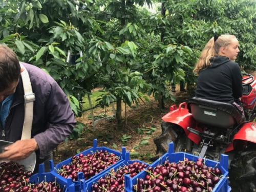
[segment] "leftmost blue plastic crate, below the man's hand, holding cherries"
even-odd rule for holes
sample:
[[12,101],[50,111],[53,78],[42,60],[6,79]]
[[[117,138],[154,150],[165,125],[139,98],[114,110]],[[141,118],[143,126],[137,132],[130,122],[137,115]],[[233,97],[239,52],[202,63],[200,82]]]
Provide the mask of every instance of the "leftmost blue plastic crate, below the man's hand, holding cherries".
[[38,184],[38,182],[50,182],[50,181],[56,181],[60,187],[63,189],[65,192],[74,192],[75,191],[75,186],[72,184],[72,180],[69,179],[63,179],[63,177],[57,177],[53,175],[52,173],[45,173],[45,164],[39,164],[39,169],[38,173],[35,175],[32,175],[29,178],[29,183],[31,184]]

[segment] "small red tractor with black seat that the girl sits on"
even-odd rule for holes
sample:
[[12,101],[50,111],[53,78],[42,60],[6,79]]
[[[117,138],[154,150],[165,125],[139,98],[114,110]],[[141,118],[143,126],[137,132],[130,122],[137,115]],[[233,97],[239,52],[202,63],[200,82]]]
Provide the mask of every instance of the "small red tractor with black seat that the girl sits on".
[[[229,103],[191,98],[187,103],[170,106],[162,117],[162,134],[154,139],[155,160],[165,154],[169,142],[175,152],[184,152],[220,161],[229,156],[229,168],[241,171],[241,191],[256,190],[256,80],[242,73],[244,93],[241,98],[245,118]],[[184,106],[182,108],[182,106]],[[241,168],[240,168],[241,167]]]

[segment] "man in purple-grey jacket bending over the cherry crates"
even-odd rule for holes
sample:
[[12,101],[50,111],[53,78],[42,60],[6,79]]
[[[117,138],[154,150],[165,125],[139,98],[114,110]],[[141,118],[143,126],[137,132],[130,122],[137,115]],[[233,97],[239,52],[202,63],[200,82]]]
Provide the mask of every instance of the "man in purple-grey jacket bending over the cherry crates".
[[[10,48],[0,45],[0,140],[14,142],[5,147],[0,159],[22,160],[35,151],[37,169],[39,163],[49,165],[53,148],[72,133],[76,121],[57,82],[41,69],[20,63]],[[28,71],[35,100],[31,139],[20,140],[25,117],[24,82],[20,74],[24,70]]]

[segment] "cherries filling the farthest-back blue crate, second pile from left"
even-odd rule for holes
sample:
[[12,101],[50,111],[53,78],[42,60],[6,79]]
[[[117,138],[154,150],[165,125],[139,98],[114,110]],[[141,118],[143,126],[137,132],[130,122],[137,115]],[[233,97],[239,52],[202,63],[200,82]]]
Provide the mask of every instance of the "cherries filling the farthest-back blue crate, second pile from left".
[[88,180],[119,160],[114,153],[100,150],[93,154],[73,156],[70,165],[63,165],[57,171],[60,176],[70,177],[72,181],[77,181],[77,174],[82,172],[84,180]]

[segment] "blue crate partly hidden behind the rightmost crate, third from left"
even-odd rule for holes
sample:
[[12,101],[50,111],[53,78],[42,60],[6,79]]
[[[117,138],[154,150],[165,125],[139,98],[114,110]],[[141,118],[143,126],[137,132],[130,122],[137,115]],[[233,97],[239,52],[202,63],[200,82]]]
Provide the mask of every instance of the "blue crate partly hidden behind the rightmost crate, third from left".
[[[134,163],[134,162],[145,163],[145,162],[140,161],[140,160],[130,160],[130,153],[127,152],[126,155],[125,155],[125,160],[121,164],[115,165],[111,169],[114,169],[114,172],[115,172],[118,168],[123,167],[125,165],[129,165],[129,164]],[[148,163],[145,163],[145,164],[147,166],[149,166]],[[109,175],[109,172],[107,172],[107,173],[105,173],[103,175],[102,174],[101,175],[97,175],[97,177],[93,178],[92,180],[90,180],[88,182],[84,181],[84,180],[81,180],[80,181],[80,184],[81,184],[80,189],[81,189],[81,191],[91,192],[93,184],[98,182],[100,178],[105,178],[107,175]]]

